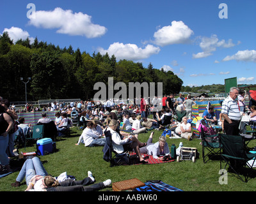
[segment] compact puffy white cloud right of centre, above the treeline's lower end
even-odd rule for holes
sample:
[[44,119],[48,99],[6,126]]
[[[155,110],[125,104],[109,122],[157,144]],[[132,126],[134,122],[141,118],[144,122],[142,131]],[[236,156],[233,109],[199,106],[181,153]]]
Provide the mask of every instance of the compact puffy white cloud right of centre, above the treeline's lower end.
[[182,21],[173,20],[172,25],[164,26],[154,33],[156,45],[166,46],[187,43],[193,31]]

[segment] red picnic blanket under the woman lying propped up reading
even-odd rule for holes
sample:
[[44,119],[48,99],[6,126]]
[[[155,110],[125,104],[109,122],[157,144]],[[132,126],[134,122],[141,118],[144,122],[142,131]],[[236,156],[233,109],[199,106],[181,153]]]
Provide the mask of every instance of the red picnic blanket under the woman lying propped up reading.
[[[148,155],[148,154],[141,154],[143,156],[143,158],[145,159],[145,161],[147,161],[147,163],[145,164],[162,164],[162,163],[170,163],[172,161],[175,161],[175,159],[166,159],[166,161],[161,161],[158,159],[154,159],[154,157],[152,155]],[[136,156],[135,152],[130,153],[130,165],[131,164],[141,164],[140,163],[140,159]]]

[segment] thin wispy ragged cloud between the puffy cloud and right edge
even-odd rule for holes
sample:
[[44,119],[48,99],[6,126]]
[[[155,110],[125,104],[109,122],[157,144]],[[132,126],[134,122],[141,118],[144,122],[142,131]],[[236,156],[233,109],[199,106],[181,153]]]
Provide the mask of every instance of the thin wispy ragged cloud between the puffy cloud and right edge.
[[212,55],[212,52],[216,51],[217,47],[229,48],[235,46],[231,39],[226,43],[225,40],[219,40],[216,34],[213,34],[210,38],[199,37],[199,39],[201,40],[199,46],[202,48],[203,52],[193,54],[194,59],[209,57]]

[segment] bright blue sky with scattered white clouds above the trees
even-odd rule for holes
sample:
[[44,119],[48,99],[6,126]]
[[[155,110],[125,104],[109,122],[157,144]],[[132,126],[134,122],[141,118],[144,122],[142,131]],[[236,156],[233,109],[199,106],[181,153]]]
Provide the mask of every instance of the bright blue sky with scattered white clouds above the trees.
[[[33,8],[35,18],[28,18]],[[145,67],[151,62],[172,70],[185,86],[232,77],[255,84],[255,11],[255,0],[10,0],[1,3],[0,34],[108,52]]]

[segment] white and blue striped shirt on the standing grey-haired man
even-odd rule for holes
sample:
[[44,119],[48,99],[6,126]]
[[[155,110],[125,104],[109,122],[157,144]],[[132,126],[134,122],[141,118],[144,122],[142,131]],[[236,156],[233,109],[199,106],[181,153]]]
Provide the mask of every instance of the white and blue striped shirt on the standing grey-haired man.
[[230,96],[223,101],[221,113],[227,114],[230,120],[241,120],[241,113],[237,101],[233,100]]

